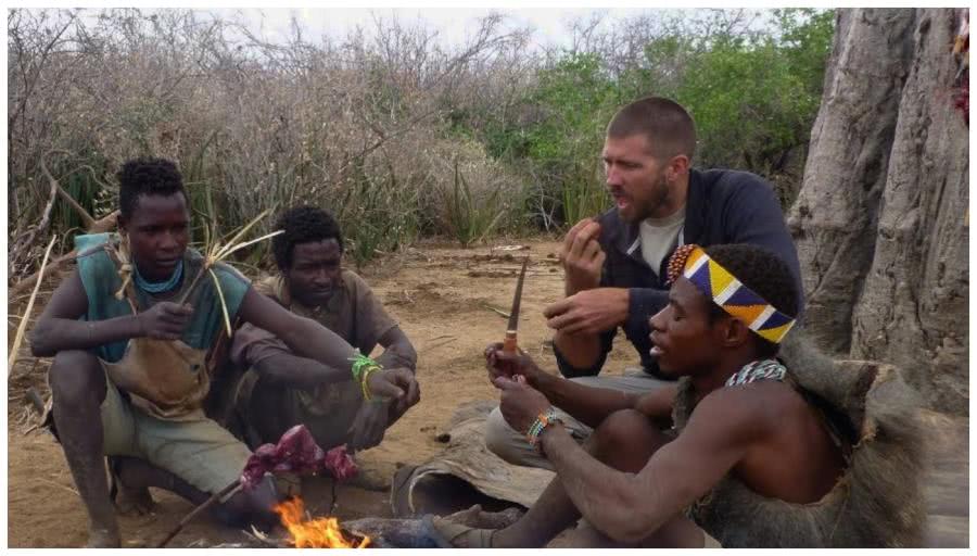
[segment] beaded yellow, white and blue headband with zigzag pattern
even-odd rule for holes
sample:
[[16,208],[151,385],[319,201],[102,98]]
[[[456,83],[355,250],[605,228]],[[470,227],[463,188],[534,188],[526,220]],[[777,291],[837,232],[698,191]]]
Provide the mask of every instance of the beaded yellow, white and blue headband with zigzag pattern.
[[683,245],[669,263],[669,281],[678,273],[726,313],[747,324],[765,340],[781,343],[795,319],[781,313],[698,245]]

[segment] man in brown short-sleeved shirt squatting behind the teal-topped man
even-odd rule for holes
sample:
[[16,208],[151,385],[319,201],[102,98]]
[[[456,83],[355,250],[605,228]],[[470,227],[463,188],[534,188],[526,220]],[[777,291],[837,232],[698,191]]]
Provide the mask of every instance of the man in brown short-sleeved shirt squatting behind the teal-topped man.
[[296,206],[278,217],[275,229],[282,230],[271,239],[279,274],[255,288],[332,330],[360,353],[381,345],[384,351],[377,361],[407,372],[408,395],[394,404],[371,399],[347,369],[303,357],[274,333],[248,324],[231,344],[231,361],[246,372],[231,387],[229,428],[252,447],[277,441],[300,422],[325,450],[343,443],[353,451],[376,446],[386,428],[419,400],[417,352],[366,281],[343,268],[343,236],[332,215]]

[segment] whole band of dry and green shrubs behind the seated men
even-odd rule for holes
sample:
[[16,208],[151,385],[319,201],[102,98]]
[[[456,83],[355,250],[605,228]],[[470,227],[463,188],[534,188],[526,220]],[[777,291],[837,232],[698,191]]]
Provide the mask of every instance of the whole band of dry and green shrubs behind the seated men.
[[[608,206],[600,148],[621,104],[663,94],[699,128],[700,167],[767,177],[785,206],[800,185],[834,13],[649,11],[573,22],[570,46],[534,47],[505,14],[448,46],[419,23],[375,16],[342,38],[294,24],[271,43],[189,10],[8,12],[8,236],[36,231],[40,161],[94,215],[114,173],[173,159],[195,239],[268,206],[334,212],[356,264],[421,237],[464,245],[558,231]],[[272,220],[263,223],[267,229]],[[54,203],[50,229],[78,216]],[[46,241],[10,253],[36,270]],[[259,264],[266,247],[248,262]]]

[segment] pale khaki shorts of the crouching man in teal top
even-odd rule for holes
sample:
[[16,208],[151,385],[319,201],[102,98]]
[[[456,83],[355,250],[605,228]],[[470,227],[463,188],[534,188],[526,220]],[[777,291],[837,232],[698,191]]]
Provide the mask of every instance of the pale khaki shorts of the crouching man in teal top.
[[134,407],[107,375],[105,386],[101,406],[105,455],[145,459],[210,493],[241,476],[251,451],[202,412],[195,420],[158,419]]

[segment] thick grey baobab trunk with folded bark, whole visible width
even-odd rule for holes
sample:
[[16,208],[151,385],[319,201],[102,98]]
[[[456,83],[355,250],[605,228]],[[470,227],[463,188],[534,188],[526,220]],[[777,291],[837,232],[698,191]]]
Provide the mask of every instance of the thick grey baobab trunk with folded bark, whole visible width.
[[898,365],[966,413],[969,151],[951,55],[961,10],[839,10],[788,223],[805,327],[839,355]]

